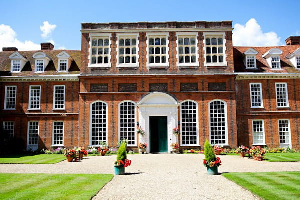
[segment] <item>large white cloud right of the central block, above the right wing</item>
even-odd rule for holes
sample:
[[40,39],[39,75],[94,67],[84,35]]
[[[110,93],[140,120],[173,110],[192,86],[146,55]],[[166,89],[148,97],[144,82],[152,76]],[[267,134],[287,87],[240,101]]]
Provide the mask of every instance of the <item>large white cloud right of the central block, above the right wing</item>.
[[278,46],[280,37],[275,32],[262,32],[260,25],[251,18],[245,25],[235,24],[232,31],[234,46]]

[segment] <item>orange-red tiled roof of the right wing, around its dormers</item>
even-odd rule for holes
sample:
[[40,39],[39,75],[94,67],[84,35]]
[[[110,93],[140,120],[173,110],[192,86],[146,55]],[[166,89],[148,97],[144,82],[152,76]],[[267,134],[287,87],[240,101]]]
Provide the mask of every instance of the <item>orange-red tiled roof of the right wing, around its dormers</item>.
[[[256,64],[258,69],[246,69],[243,62],[244,52],[249,48],[253,48],[258,52],[256,55]],[[279,48],[283,51],[280,55],[281,70],[271,69],[265,58],[262,55],[272,48]],[[287,46],[268,46],[268,47],[239,47],[233,46],[234,55],[234,71],[235,72],[274,72],[274,73],[300,73],[300,70],[295,69],[289,59],[286,58],[289,54],[300,48],[300,45],[287,45]]]

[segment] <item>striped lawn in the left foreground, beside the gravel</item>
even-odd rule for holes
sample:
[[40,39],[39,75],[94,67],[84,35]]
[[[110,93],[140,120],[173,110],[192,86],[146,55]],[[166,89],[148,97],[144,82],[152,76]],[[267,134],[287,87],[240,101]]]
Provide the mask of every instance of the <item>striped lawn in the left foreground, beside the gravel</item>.
[[91,199],[112,174],[0,174],[0,199]]

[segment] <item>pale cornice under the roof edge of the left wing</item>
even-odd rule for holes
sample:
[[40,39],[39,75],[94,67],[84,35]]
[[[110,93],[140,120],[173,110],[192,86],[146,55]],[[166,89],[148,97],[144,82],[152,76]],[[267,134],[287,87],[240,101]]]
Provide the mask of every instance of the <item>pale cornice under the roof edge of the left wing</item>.
[[38,75],[38,76],[0,76],[0,82],[77,82],[79,74],[74,75]]

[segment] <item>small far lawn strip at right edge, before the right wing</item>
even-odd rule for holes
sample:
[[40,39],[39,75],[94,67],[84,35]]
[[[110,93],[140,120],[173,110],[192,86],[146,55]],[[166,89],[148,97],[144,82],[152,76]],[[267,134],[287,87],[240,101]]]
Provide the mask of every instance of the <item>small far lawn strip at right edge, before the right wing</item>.
[[298,162],[300,153],[266,153],[264,159],[268,162]]

